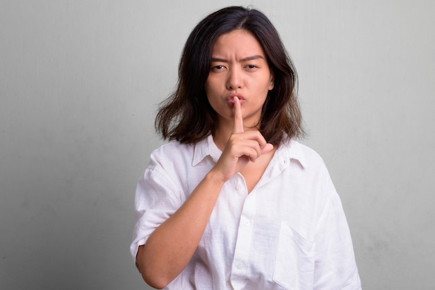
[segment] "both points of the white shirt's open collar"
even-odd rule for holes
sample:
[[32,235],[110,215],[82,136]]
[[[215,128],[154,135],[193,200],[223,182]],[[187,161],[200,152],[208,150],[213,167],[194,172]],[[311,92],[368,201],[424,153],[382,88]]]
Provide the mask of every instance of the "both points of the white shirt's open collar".
[[[210,156],[214,162],[217,162],[221,154],[222,151],[217,148],[213,141],[213,136],[208,135],[208,137],[195,144],[192,166],[197,166],[197,164],[202,162],[202,160],[207,156]],[[275,152],[275,157],[278,157],[280,162],[284,162],[284,164],[290,160],[297,160],[302,167],[306,168],[306,160],[302,144],[293,139],[290,139],[287,143],[283,142],[283,144],[277,149],[277,152]]]

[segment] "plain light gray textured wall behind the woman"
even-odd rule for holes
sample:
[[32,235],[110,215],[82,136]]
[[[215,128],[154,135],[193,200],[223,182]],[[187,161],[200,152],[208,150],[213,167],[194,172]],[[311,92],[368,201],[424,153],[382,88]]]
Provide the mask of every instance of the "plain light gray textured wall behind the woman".
[[157,103],[208,12],[252,4],[299,71],[364,289],[435,285],[433,1],[0,1],[0,289],[146,289],[129,257]]

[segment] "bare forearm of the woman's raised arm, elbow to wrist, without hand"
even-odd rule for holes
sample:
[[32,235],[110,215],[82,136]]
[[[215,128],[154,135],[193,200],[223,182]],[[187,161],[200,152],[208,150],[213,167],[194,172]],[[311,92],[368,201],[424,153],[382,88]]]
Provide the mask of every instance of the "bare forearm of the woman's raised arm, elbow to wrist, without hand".
[[162,223],[136,256],[144,280],[163,288],[183,271],[197,249],[224,185],[210,171],[183,205]]

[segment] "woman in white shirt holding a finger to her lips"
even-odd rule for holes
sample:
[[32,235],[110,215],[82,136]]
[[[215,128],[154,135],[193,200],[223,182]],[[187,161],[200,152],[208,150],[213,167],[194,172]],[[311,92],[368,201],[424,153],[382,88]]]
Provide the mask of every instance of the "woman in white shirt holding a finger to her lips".
[[361,289],[340,199],[303,134],[274,26],[228,7],[194,28],[156,117],[131,254],[158,289]]

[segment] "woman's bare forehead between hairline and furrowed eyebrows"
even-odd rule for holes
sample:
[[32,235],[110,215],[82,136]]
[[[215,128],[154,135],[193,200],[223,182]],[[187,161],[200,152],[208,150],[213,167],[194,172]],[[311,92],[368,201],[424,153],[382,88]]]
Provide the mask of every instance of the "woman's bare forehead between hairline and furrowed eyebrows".
[[244,29],[237,29],[220,35],[213,45],[213,56],[233,53],[243,56],[265,56],[260,42],[252,33]]

